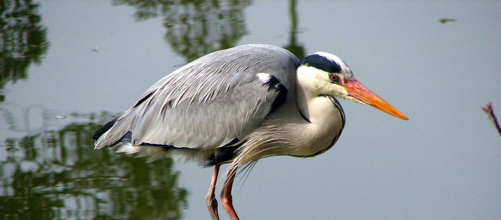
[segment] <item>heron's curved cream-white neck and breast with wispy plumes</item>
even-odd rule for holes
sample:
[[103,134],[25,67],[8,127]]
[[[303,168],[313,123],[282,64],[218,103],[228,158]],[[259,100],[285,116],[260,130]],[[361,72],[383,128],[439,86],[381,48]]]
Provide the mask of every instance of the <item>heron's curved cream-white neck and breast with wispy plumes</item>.
[[336,107],[329,97],[316,92],[316,88],[320,88],[318,79],[301,72],[297,72],[296,90],[292,89],[296,94],[290,94],[288,98],[292,100],[284,103],[288,106],[277,109],[275,117],[249,135],[233,163],[271,155],[315,156],[325,152],[337,140],[343,129],[341,107]]

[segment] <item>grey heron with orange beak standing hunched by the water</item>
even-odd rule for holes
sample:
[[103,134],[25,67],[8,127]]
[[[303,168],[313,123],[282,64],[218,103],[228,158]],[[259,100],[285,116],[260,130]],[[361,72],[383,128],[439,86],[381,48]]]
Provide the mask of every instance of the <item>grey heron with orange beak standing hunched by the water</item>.
[[336,98],[408,120],[355,80],[335,55],[318,52],[300,61],[280,47],[244,45],[168,74],[92,138],[95,149],[213,166],[206,197],[212,219],[219,219],[214,194],[219,166],[229,163],[221,203],[238,219],[231,197],[237,168],[248,169],[264,157],[326,152],[345,125]]

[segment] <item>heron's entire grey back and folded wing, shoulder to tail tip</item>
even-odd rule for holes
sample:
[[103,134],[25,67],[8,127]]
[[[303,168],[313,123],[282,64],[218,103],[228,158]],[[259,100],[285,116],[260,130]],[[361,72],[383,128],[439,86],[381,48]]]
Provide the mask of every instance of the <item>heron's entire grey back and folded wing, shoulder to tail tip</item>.
[[122,141],[213,149],[242,140],[285,101],[298,63],[290,52],[267,45],[201,57],[165,76],[96,131],[96,149]]

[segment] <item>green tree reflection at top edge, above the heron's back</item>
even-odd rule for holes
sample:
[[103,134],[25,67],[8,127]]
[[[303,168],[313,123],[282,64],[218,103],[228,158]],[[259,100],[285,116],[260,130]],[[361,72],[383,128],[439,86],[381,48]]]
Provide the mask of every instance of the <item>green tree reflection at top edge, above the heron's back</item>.
[[134,1],[114,0],[114,5],[137,8],[136,19],[164,17],[165,40],[191,62],[214,51],[234,47],[247,34],[243,10],[250,0]]

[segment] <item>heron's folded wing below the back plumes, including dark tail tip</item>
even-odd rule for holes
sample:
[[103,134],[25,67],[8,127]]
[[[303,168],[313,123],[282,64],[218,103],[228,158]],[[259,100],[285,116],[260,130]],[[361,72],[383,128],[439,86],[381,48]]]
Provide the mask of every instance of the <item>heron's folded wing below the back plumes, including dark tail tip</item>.
[[[242,140],[283,101],[287,90],[268,74],[233,73],[216,85],[176,90],[159,86],[143,94],[134,107],[116,118],[97,138],[96,148],[111,146],[131,132],[132,145],[169,145],[212,149]],[[218,84],[218,85],[217,85]],[[228,86],[226,88],[222,88]]]

